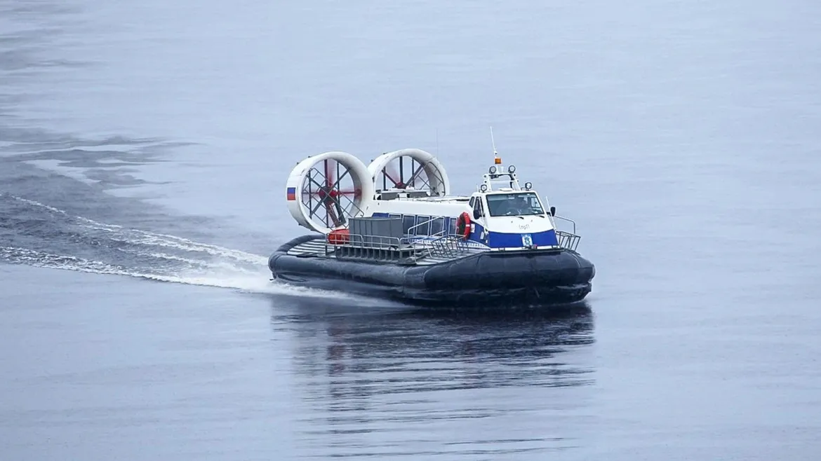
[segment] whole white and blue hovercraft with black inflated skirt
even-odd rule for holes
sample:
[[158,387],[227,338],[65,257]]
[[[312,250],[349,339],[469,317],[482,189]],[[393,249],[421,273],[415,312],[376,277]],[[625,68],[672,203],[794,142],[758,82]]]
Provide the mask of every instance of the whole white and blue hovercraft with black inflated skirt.
[[[272,280],[411,304],[584,299],[595,267],[576,250],[576,223],[493,155],[470,195],[451,194],[441,162],[416,148],[383,153],[368,167],[338,151],[305,158],[286,198],[313,234],[271,255]],[[557,221],[571,230],[557,230]]]

